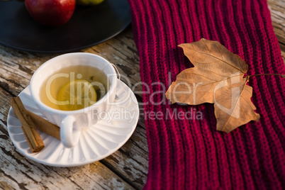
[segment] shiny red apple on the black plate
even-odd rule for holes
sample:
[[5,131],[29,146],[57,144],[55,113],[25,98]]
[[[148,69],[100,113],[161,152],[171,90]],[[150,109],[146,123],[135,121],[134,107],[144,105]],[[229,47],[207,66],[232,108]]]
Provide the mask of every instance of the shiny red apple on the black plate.
[[67,23],[74,12],[75,2],[76,0],[25,0],[30,16],[45,26]]

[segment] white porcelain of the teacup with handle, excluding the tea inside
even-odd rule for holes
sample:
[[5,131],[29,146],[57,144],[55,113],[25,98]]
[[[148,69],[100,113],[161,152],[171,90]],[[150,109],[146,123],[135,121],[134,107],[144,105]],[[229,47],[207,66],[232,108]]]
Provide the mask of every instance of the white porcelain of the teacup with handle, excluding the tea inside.
[[[109,84],[106,95],[95,104],[75,111],[62,111],[44,104],[40,97],[41,86],[63,67],[74,65],[88,65],[102,70],[106,74]],[[41,65],[30,80],[30,93],[43,116],[48,121],[60,126],[62,144],[65,147],[74,147],[79,142],[82,129],[91,127],[98,121],[97,114],[92,115],[92,109],[96,109],[97,112],[108,111],[109,103],[113,102],[116,97],[116,86],[116,70],[110,62],[99,55],[74,52],[54,57]]]

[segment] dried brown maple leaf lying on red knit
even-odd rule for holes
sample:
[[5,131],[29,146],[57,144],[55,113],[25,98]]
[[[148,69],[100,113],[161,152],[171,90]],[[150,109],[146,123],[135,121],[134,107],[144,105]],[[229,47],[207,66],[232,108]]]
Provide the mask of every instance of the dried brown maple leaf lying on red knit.
[[213,103],[217,130],[230,131],[250,121],[259,121],[252,104],[252,87],[246,85],[247,64],[217,41],[201,39],[181,44],[194,67],[184,69],[169,86],[166,96],[175,102],[199,105]]

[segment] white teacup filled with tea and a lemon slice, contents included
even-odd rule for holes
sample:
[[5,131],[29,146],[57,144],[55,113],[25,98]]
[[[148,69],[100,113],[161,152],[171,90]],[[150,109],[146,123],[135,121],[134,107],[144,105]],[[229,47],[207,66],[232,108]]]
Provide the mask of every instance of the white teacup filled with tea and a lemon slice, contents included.
[[60,126],[65,147],[79,142],[82,129],[96,125],[96,111],[108,111],[116,96],[116,70],[99,55],[67,53],[41,65],[30,80],[39,111]]

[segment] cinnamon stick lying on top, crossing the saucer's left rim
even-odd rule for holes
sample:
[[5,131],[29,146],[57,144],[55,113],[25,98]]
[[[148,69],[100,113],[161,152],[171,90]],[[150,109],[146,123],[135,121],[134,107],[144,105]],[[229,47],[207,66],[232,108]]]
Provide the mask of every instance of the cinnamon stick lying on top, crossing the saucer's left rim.
[[19,97],[12,98],[10,100],[10,104],[15,115],[22,124],[23,133],[26,136],[30,150],[32,152],[39,152],[45,147],[45,145],[43,144],[43,140],[40,138],[38,130],[35,128],[35,124],[26,111],[26,108],[23,106],[21,99]]

